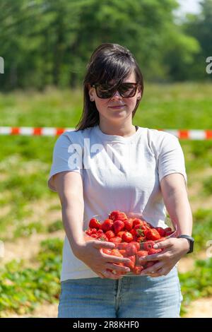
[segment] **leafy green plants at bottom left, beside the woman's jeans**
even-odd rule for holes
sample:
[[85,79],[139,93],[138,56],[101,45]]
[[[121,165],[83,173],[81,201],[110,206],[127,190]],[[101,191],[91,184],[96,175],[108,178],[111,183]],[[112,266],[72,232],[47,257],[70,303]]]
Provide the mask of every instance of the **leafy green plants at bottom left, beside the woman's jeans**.
[[61,240],[47,240],[41,243],[38,268],[24,268],[24,261],[13,260],[0,269],[0,317],[12,311],[28,314],[37,304],[58,301],[61,250]]

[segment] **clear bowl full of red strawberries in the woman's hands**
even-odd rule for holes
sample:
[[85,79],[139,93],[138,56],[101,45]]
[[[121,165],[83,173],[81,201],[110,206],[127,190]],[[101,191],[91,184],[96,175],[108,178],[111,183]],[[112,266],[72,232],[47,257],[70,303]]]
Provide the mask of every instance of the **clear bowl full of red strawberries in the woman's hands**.
[[114,249],[102,249],[102,251],[111,256],[127,257],[129,263],[119,264],[129,267],[130,272],[122,274],[139,275],[144,268],[155,263],[155,261],[145,261],[143,258],[162,251],[154,249],[153,246],[167,238],[177,237],[177,230],[170,218],[166,218],[160,227],[153,227],[141,213],[111,211],[105,219],[101,219],[100,215],[94,215],[88,221],[85,234],[88,241],[97,239],[113,242]]

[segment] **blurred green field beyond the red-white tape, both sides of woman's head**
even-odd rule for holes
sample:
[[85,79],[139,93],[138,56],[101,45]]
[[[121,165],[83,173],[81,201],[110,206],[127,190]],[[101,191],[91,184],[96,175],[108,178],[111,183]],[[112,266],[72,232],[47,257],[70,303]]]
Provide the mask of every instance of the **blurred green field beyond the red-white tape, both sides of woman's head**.
[[[134,122],[150,128],[210,129],[211,83],[146,84]],[[1,126],[76,126],[81,90],[0,94]]]

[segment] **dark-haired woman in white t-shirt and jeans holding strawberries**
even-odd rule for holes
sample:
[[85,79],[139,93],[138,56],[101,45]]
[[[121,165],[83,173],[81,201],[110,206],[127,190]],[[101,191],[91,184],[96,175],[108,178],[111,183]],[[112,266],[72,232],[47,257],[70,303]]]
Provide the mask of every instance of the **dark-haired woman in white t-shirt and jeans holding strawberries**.
[[178,317],[176,264],[189,251],[188,239],[160,242],[163,251],[150,259],[155,265],[129,276],[118,265],[128,259],[100,251],[114,244],[86,242],[84,230],[93,215],[104,220],[114,210],[163,226],[166,207],[179,235],[190,236],[182,148],[175,136],[132,123],[143,76],[128,49],[102,44],[87,69],[81,121],[57,139],[48,182],[59,194],[66,231],[59,317]]

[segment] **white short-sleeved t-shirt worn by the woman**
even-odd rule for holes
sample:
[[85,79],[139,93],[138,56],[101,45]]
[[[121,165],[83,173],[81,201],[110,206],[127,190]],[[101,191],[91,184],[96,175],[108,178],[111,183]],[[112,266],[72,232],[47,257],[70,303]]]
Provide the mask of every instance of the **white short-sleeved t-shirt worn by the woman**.
[[[78,172],[83,179],[84,230],[93,215],[104,220],[113,210],[142,213],[153,226],[163,227],[161,179],[181,173],[187,183],[178,139],[140,126],[128,137],[104,134],[99,126],[64,132],[54,145],[49,189],[56,191],[52,176],[64,171]],[[65,237],[61,281],[97,276],[73,255]]]

